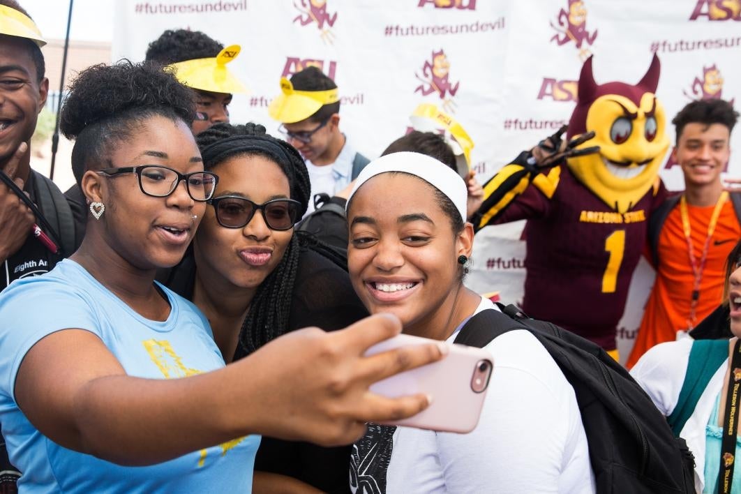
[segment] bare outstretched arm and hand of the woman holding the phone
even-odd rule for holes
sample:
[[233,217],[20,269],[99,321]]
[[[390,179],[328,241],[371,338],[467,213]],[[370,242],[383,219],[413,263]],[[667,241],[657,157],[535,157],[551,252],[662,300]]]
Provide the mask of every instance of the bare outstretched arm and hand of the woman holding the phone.
[[27,352],[16,402],[51,440],[119,464],[154,464],[252,433],[348,444],[365,422],[405,418],[428,405],[425,395],[391,399],[368,390],[444,355],[445,347],[430,344],[363,356],[400,331],[388,315],[333,333],[299,330],[220,370],[160,380],[126,375],[87,330],[60,330]]

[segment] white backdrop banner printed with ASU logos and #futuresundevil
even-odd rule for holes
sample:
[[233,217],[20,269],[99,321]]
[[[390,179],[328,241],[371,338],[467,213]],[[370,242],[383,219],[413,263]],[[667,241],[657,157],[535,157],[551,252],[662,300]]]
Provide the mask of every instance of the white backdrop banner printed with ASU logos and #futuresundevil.
[[[165,29],[241,44],[230,69],[250,93],[235,96],[233,122],[277,133],[267,110],[279,79],[316,65],[339,86],[342,130],[366,156],[402,136],[419,103],[433,103],[473,138],[480,181],[568,121],[590,55],[597,83],[635,84],[657,53],[669,119],[693,99],[741,99],[740,0],[120,0],[116,9],[114,59],[143,59]],[[741,149],[740,131],[731,147]],[[741,176],[738,156],[731,176]],[[682,188],[668,157],[661,174],[670,189]],[[522,299],[520,230],[479,233],[471,287]],[[652,276],[642,266],[634,280],[623,356]]]

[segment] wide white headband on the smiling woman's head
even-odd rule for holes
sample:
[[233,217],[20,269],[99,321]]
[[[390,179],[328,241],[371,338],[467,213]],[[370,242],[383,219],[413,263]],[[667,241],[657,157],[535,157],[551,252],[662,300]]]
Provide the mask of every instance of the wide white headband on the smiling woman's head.
[[[362,169],[358,178],[356,178],[353,191],[348,197],[348,203],[353,198],[362,184],[381,173],[402,172],[422,178],[437,190],[445,194],[461,215],[463,221],[466,220],[466,201],[468,199],[468,190],[465,181],[450,167],[437,161],[435,158],[420,154],[408,153],[391,153],[381,156],[368,163],[368,166]],[[347,208],[347,205],[345,205]]]

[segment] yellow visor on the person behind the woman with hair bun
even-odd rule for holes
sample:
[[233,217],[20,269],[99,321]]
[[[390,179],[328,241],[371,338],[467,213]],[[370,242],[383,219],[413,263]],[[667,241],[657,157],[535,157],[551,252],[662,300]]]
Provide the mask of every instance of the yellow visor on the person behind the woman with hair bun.
[[175,71],[176,78],[187,87],[212,93],[247,93],[245,84],[227,68],[242,49],[232,44],[211,59],[179,61],[167,67]]

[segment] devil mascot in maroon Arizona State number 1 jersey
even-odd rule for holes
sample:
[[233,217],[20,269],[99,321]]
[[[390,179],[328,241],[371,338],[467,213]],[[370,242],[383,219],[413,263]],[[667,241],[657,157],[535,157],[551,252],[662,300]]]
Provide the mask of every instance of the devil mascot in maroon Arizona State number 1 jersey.
[[[594,131],[565,162],[543,168],[521,153],[484,186],[476,229],[527,219],[522,309],[594,341],[617,358],[615,336],[642,254],[648,216],[666,196],[669,147],[656,98],[659,59],[636,85],[597,84],[588,59],[568,137]],[[574,142],[574,141],[572,141]],[[574,156],[599,146],[598,153]]]

